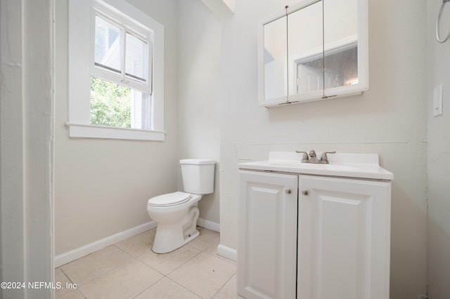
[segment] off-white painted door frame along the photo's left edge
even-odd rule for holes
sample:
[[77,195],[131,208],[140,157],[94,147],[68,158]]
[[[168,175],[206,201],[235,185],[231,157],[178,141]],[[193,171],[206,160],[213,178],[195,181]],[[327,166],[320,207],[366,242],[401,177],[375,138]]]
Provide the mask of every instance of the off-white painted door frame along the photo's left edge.
[[0,281],[53,281],[52,44],[53,1],[0,0]]

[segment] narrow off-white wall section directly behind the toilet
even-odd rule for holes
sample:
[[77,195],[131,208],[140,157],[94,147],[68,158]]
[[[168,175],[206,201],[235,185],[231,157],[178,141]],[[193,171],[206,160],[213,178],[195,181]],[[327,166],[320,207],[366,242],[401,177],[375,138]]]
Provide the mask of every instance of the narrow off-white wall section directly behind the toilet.
[[214,193],[198,206],[200,218],[218,224],[221,23],[199,0],[179,1],[179,44],[179,157],[217,161]]

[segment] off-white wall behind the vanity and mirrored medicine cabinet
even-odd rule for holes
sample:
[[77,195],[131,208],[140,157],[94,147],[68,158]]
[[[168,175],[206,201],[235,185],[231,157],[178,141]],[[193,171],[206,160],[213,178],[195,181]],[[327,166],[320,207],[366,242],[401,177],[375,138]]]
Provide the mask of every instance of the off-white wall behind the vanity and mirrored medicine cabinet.
[[237,0],[221,42],[221,244],[237,247],[240,161],[269,150],[380,154],[392,171],[391,298],[425,294],[427,190],[426,3],[368,1],[364,95],[257,107],[257,21],[295,1]]

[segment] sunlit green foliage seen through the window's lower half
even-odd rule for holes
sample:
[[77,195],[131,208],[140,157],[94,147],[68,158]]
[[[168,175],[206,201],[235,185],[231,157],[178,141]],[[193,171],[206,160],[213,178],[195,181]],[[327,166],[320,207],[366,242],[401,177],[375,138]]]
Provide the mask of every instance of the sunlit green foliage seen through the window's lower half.
[[91,77],[91,124],[131,128],[131,88]]

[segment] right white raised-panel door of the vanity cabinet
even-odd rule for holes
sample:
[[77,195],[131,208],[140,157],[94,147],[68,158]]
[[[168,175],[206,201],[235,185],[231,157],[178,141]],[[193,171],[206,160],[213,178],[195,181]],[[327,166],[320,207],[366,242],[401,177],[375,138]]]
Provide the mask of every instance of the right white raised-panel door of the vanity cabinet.
[[389,298],[390,189],[300,175],[297,298]]

